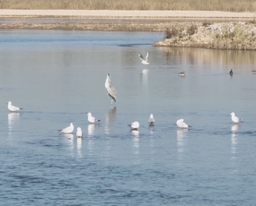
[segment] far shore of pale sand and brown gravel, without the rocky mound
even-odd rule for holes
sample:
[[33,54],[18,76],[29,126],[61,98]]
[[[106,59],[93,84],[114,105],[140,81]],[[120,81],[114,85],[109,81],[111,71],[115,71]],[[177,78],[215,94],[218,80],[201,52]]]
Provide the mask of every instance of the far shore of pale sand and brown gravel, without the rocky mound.
[[[209,11],[0,10],[0,29],[156,31],[202,21],[252,21],[254,13]],[[50,19],[50,21],[48,21]],[[71,21],[72,20],[72,21]]]

